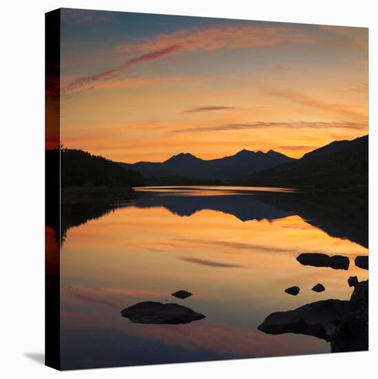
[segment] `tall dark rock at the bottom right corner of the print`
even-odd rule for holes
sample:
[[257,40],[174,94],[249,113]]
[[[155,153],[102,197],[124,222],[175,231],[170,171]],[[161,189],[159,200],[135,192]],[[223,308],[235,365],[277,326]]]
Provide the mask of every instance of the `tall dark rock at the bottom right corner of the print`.
[[368,350],[368,280],[356,285],[350,298],[350,311],[342,317],[330,340],[332,352]]

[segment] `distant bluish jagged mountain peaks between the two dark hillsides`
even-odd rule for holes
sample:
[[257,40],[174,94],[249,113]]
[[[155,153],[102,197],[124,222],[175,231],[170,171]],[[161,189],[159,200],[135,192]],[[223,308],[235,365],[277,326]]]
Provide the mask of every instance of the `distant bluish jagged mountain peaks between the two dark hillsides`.
[[195,179],[232,179],[240,178],[259,170],[295,161],[273,150],[251,152],[241,150],[235,155],[224,158],[204,160],[189,153],[180,153],[162,163],[138,162],[120,163],[125,168],[138,170],[147,178],[167,178],[180,176]]

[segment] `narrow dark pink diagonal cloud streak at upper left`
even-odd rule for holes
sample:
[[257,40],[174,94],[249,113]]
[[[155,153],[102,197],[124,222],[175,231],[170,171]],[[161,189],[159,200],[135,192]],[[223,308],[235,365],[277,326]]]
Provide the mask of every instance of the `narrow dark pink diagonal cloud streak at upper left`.
[[78,92],[82,90],[83,87],[87,85],[91,85],[92,83],[96,81],[112,79],[115,76],[118,76],[120,72],[122,72],[123,70],[127,68],[132,67],[133,65],[137,65],[137,64],[144,63],[147,61],[153,61],[154,59],[164,57],[165,55],[172,54],[174,52],[177,52],[178,50],[180,50],[180,46],[173,45],[173,46],[170,46],[169,48],[156,50],[154,52],[149,52],[147,54],[139,55],[136,58],[129,59],[125,61],[124,63],[115,66],[114,68],[109,68],[108,70],[104,70],[102,72],[99,72],[98,74],[83,76],[65,85],[65,87],[63,87],[62,89],[62,94],[67,95],[67,94],[70,94],[71,92]]

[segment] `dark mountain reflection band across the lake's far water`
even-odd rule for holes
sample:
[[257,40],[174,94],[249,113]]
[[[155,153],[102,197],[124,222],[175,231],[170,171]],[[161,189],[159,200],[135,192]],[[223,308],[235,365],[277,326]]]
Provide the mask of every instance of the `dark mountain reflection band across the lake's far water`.
[[[229,189],[231,188],[231,189]],[[368,247],[368,205],[348,194],[301,193],[262,187],[142,187],[138,196],[118,203],[78,203],[61,206],[61,241],[70,227],[100,218],[120,207],[165,207],[178,216],[204,209],[232,214],[240,221],[274,220],[293,214],[330,236]],[[266,192],[264,191],[266,189]],[[50,226],[50,225],[48,225]],[[52,225],[51,225],[52,226]]]

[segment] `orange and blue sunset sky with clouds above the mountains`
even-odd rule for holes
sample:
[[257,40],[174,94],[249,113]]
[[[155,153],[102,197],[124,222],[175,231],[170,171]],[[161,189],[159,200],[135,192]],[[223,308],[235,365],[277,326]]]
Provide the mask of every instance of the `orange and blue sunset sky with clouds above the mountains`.
[[368,30],[61,11],[61,140],[114,161],[299,158],[368,133]]

